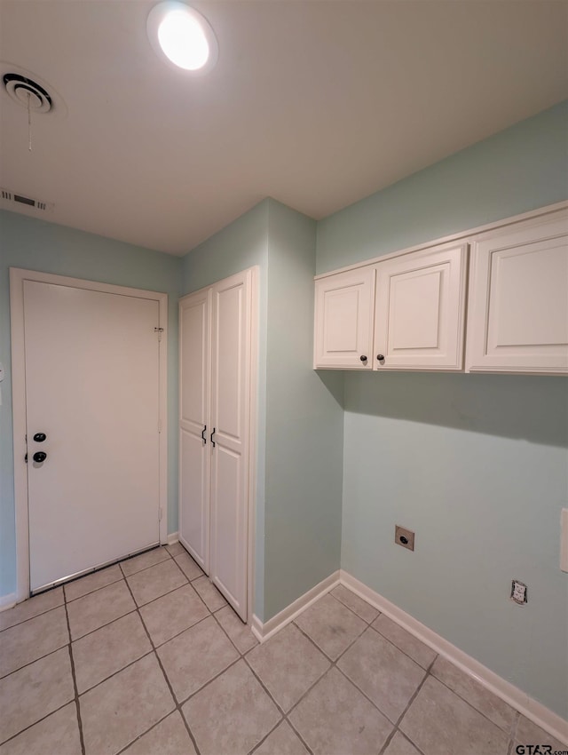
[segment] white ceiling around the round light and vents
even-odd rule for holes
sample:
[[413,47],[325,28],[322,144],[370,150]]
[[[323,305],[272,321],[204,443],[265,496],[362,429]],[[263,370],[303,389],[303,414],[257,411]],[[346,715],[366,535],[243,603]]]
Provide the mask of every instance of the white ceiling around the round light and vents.
[[319,219],[568,97],[564,0],[194,2],[201,77],[156,57],[153,4],[0,0],[0,59],[67,107],[29,152],[0,92],[0,185],[54,203],[16,211],[184,254],[267,195]]

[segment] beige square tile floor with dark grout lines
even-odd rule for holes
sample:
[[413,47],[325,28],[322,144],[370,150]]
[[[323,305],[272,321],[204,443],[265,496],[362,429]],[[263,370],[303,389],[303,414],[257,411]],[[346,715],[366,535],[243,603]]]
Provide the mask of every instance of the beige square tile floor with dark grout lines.
[[568,747],[336,587],[258,645],[180,544],[0,614],[0,755]]

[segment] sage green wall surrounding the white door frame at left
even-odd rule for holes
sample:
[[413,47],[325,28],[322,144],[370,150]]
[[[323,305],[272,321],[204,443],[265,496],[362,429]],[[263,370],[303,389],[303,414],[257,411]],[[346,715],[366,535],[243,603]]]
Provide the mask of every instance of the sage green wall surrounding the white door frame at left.
[[164,291],[168,304],[168,530],[177,530],[177,298],[182,261],[157,251],[0,211],[0,597],[16,589],[9,267]]

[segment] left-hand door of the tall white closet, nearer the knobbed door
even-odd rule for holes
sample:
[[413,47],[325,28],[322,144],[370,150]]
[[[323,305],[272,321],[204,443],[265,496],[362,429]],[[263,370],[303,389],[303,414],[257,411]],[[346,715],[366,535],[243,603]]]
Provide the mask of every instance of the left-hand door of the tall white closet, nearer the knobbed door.
[[179,540],[206,574],[209,574],[210,300],[210,290],[204,290],[179,302]]

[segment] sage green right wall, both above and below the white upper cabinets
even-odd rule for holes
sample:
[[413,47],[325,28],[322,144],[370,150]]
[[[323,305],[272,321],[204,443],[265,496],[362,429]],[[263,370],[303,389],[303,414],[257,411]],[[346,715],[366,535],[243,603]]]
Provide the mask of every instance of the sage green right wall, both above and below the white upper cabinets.
[[[322,220],[319,271],[567,199],[566,134],[564,102]],[[568,380],[349,373],[344,392],[342,568],[567,717]]]

